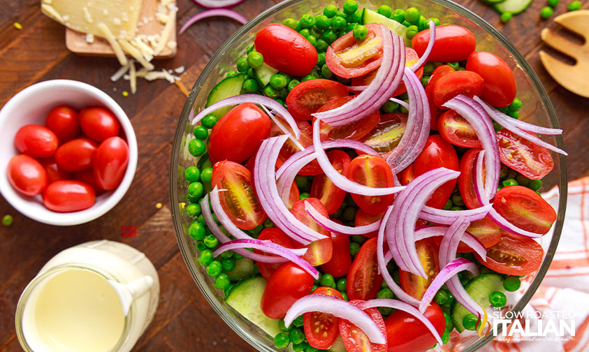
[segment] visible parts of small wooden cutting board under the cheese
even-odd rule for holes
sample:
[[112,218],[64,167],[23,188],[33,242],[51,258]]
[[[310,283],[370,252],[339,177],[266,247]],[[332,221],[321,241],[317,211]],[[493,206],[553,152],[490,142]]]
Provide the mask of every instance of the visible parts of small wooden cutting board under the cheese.
[[[142,26],[138,26],[137,34],[145,34],[152,36],[154,34],[161,33],[164,24],[159,22],[155,14],[157,13],[157,5],[159,0],[143,0],[143,6],[141,6],[141,13],[139,15],[139,22],[144,22],[143,19],[152,19],[145,21],[146,23]],[[174,29],[168,43],[176,41],[176,20],[174,19]],[[73,29],[66,28],[66,47],[76,54],[96,56],[96,57],[115,57],[115,52],[112,51],[112,47],[106,41],[106,39],[94,37],[94,43],[88,43],[86,41],[86,34],[74,31]],[[164,49],[157,54],[154,59],[168,59],[174,57],[176,54],[177,47],[171,49],[166,45]]]

